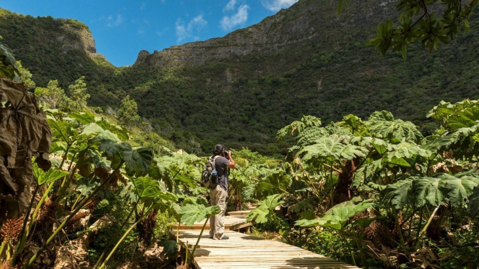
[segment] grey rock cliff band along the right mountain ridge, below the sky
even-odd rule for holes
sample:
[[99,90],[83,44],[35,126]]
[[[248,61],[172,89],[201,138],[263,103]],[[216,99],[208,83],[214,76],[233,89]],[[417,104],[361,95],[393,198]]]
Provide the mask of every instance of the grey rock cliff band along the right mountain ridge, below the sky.
[[[377,19],[383,19],[386,14],[393,12],[396,6],[393,0],[356,3],[370,9],[366,18],[363,13],[347,14],[347,12],[343,12],[340,17],[334,13],[334,3],[337,3],[337,0],[329,2],[299,0],[287,10],[281,10],[260,23],[239,29],[224,37],[172,46],[147,57],[140,52],[135,64],[146,61],[149,65],[160,67],[200,66],[212,60],[287,51],[294,47],[302,47],[308,44],[308,41],[320,40],[324,37],[321,32],[328,31],[331,26],[337,29],[333,26],[336,23],[341,23],[342,28],[347,29],[350,26],[369,24],[371,20],[379,22]],[[332,8],[328,16],[321,12],[325,7]],[[347,11],[347,8],[344,9]]]

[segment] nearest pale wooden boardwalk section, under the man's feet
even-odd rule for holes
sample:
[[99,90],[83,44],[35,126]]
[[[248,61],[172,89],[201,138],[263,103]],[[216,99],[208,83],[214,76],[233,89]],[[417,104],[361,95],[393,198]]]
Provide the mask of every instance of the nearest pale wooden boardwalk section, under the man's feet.
[[[179,239],[193,248],[199,230],[181,230]],[[171,232],[176,236],[176,232]],[[209,239],[204,233],[194,254],[197,269],[358,269],[350,264],[327,258],[300,247],[266,240],[253,235],[225,231],[228,240]]]

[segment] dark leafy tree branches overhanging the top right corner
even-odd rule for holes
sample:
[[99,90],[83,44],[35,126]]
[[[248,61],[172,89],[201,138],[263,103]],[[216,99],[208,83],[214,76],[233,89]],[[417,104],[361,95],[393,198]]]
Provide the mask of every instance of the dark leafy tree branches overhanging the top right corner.
[[[343,3],[347,0],[339,0],[338,12]],[[401,51],[404,59],[411,43],[421,43],[429,52],[437,50],[440,42],[448,44],[459,31],[469,31],[468,19],[477,4],[478,0],[400,0],[399,22],[380,24],[368,45],[375,45],[382,56],[388,50]]]

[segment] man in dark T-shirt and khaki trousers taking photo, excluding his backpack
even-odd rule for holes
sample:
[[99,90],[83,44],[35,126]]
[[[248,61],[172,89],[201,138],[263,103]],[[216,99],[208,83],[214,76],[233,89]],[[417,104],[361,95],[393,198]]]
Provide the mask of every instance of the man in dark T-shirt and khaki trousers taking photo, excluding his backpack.
[[218,185],[215,189],[210,190],[210,202],[211,205],[219,206],[220,213],[210,217],[210,238],[215,240],[228,239],[228,236],[224,235],[225,223],[223,220],[228,198],[228,168],[235,169],[236,163],[231,157],[231,151],[226,151],[223,145],[216,145],[213,149],[213,155],[219,156],[215,160]]

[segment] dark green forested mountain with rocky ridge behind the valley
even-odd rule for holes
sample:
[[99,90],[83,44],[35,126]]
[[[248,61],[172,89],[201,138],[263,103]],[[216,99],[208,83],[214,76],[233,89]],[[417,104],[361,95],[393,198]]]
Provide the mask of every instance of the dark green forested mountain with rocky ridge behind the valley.
[[[479,98],[479,23],[428,54],[421,46],[378,56],[364,44],[396,18],[395,1],[299,0],[287,10],[221,38],[162,51],[140,51],[131,67],[96,54],[81,22],[0,11],[2,43],[44,86],[85,75],[92,106],[117,106],[126,95],[161,134],[205,151],[222,142],[264,154],[281,151],[275,132],[304,114],[324,123],[389,110],[427,134],[439,101]],[[475,12],[477,14],[477,12]],[[184,146],[183,146],[184,147]]]

